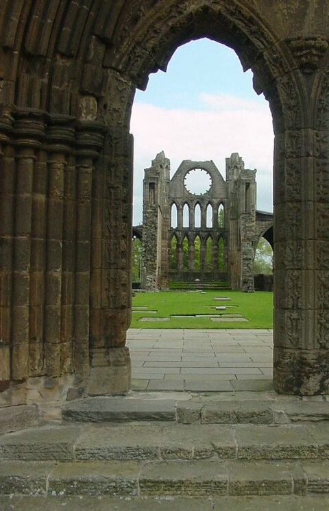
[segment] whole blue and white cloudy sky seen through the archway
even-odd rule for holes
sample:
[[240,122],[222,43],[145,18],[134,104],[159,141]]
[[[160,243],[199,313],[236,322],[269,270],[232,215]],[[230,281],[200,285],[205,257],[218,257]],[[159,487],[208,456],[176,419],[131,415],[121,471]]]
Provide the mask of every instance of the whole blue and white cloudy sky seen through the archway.
[[232,49],[207,39],[175,51],[167,73],[137,90],[134,134],[134,225],[143,219],[144,169],[160,151],[171,177],[182,160],[213,160],[225,179],[225,159],[239,153],[257,169],[257,209],[272,211],[273,127],[265,98],[252,88]]

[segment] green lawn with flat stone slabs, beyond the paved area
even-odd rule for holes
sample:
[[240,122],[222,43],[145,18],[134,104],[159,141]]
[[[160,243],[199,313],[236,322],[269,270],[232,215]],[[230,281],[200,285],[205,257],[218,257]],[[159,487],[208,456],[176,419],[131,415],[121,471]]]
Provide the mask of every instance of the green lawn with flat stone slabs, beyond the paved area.
[[[215,300],[228,297],[230,301]],[[226,307],[225,310],[216,307]],[[207,315],[231,321],[212,321]],[[187,316],[184,318],[175,315]],[[237,317],[249,321],[234,321]],[[190,316],[190,317],[188,317]],[[195,317],[198,316],[198,317]],[[147,317],[149,320],[140,321]],[[170,318],[159,321],[156,318]],[[152,321],[154,319],[154,321]],[[273,328],[273,293],[257,291],[159,291],[136,292],[132,298],[132,328]]]

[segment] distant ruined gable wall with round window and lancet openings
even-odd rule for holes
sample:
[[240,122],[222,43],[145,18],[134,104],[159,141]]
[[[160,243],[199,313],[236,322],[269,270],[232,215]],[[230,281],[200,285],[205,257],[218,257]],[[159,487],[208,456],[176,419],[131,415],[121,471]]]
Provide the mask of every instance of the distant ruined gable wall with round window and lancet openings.
[[[163,151],[145,169],[143,288],[154,291],[173,281],[228,282],[232,289],[253,292],[254,255],[260,236],[265,234],[265,219],[267,229],[272,226],[270,213],[263,212],[261,220],[256,219],[256,171],[246,170],[238,153],[226,159],[226,181],[212,161],[185,160],[170,180],[169,170]],[[191,192],[186,185],[186,177],[197,171],[201,171],[197,179],[208,177],[210,183],[204,193]],[[184,225],[185,208],[188,225]],[[174,226],[173,210],[177,217]],[[173,240],[175,251],[171,249]],[[185,266],[184,251],[188,253]]]

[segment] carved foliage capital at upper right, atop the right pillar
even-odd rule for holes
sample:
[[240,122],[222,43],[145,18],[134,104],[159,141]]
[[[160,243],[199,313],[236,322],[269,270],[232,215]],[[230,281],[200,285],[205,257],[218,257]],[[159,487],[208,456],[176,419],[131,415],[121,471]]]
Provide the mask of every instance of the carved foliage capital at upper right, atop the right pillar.
[[291,52],[304,73],[313,73],[328,50],[328,41],[320,36],[298,37],[289,40]]

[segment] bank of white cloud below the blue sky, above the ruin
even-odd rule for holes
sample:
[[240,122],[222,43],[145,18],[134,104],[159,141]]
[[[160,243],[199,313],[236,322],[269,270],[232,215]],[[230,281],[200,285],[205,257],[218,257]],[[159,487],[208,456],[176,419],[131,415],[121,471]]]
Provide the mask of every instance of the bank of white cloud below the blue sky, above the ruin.
[[238,152],[246,169],[257,169],[258,209],[272,208],[273,128],[266,103],[230,95],[202,95],[201,110],[167,110],[134,103],[134,224],[142,221],[144,169],[160,151],[171,176],[182,160],[213,160],[225,179],[225,159]]

